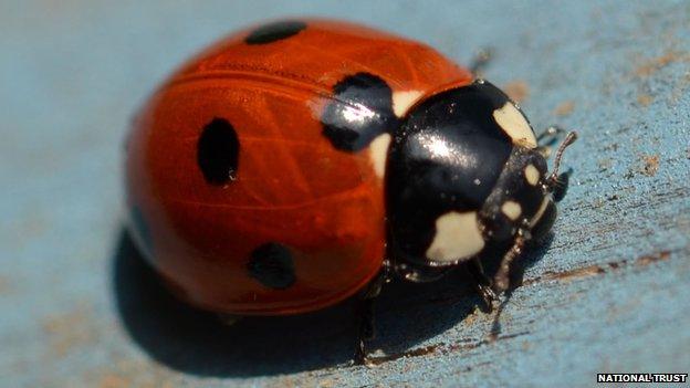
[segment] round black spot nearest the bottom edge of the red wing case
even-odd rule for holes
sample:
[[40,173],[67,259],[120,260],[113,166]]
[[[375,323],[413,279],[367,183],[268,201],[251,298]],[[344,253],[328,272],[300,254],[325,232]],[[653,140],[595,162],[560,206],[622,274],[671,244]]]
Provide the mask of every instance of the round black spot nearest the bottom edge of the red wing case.
[[265,243],[251,253],[249,275],[266,287],[284,290],[295,282],[292,254],[284,245]]

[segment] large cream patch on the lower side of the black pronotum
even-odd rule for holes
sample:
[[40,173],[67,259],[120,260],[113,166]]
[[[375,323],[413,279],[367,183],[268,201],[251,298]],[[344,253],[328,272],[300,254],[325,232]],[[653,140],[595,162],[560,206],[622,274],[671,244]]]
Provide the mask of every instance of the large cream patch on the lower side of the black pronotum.
[[484,248],[475,211],[450,211],[436,220],[436,235],[426,252],[433,261],[468,259]]

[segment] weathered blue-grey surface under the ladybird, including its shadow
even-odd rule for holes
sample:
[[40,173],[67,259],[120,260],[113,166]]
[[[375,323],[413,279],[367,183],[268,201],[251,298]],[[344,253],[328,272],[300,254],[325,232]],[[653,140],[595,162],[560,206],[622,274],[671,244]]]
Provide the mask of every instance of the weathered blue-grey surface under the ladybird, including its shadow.
[[[581,132],[546,249],[500,316],[461,281],[383,295],[374,368],[352,305],[223,329],[171,301],[122,232],[121,143],[185,57],[265,18],[414,36]],[[690,3],[2,1],[0,385],[592,386],[690,370]]]

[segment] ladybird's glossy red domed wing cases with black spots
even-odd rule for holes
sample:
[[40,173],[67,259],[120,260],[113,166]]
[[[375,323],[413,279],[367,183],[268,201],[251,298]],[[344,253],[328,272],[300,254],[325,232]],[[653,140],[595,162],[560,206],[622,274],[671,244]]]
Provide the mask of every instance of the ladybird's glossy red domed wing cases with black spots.
[[[179,297],[219,313],[295,314],[378,273],[377,150],[324,134],[338,85],[356,74],[383,80],[400,104],[472,78],[418,42],[302,20],[234,33],[154,93],[127,139],[127,202],[135,240]],[[377,114],[351,108],[355,122]]]

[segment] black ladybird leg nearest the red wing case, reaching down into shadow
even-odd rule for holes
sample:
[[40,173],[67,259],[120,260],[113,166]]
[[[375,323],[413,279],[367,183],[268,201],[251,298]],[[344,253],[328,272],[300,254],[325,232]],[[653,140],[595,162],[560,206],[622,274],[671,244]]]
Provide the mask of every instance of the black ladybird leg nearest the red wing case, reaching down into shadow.
[[366,342],[374,338],[374,303],[380,294],[384,284],[390,282],[390,262],[384,261],[379,274],[369,283],[367,290],[359,296],[357,304],[358,333],[355,348],[355,365],[368,365]]

